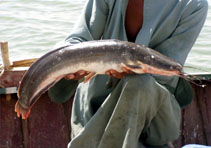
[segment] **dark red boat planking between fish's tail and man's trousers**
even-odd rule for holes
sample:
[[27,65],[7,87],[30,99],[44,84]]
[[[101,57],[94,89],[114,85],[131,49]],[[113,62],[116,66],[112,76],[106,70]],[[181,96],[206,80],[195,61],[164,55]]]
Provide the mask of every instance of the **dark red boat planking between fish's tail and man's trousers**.
[[41,96],[23,121],[26,148],[66,148],[69,139],[68,121],[62,104],[50,101],[47,94]]

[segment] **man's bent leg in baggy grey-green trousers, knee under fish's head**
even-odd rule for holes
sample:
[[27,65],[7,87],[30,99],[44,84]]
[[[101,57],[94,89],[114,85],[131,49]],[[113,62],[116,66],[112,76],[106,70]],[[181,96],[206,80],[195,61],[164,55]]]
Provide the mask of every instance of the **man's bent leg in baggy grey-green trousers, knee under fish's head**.
[[136,148],[140,146],[142,132],[146,133],[144,140],[148,145],[165,144],[179,133],[180,110],[175,103],[174,96],[152,76],[127,76],[69,147]]

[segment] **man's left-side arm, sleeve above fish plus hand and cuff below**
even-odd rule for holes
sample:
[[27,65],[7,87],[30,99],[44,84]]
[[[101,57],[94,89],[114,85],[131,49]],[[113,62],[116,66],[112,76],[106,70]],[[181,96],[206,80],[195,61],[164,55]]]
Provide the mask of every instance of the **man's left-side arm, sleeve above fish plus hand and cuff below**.
[[[108,7],[104,0],[88,0],[79,22],[65,40],[66,44],[100,39],[104,31],[107,13]],[[79,82],[77,80],[87,74],[88,72],[79,71],[65,77],[71,80],[60,80],[48,91],[51,100],[63,103],[70,99],[78,86]]]

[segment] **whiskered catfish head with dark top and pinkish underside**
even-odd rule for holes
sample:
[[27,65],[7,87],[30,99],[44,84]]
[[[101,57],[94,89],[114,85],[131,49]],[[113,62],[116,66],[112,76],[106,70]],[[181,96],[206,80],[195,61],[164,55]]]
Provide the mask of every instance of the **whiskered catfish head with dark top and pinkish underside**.
[[159,52],[145,48],[131,51],[127,66],[135,73],[150,73],[165,76],[179,75],[183,66]]

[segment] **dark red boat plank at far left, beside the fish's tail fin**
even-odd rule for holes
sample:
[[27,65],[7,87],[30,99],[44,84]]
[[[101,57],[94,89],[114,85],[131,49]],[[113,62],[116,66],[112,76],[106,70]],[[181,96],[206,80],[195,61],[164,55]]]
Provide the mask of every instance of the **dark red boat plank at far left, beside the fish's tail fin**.
[[6,101],[6,95],[0,95],[0,148],[23,148],[21,120],[14,112],[17,98],[12,95]]

